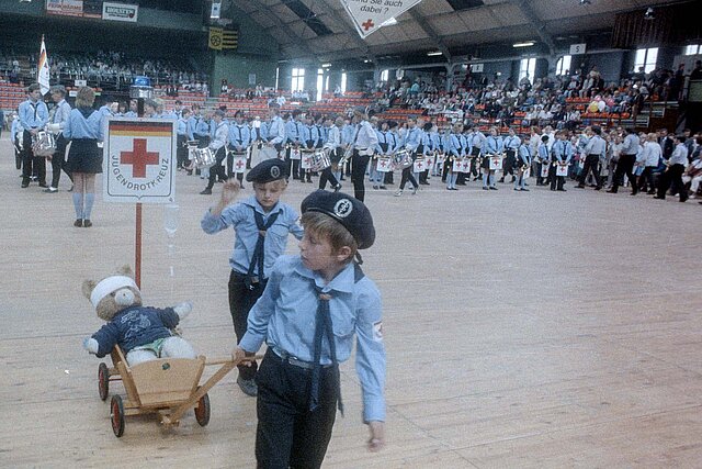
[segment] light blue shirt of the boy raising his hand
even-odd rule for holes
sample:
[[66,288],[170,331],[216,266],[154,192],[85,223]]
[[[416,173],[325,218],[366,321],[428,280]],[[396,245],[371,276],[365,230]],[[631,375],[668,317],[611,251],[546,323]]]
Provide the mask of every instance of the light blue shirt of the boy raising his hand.
[[[268,217],[281,212],[275,223],[268,228],[263,242],[263,278],[268,278],[275,259],[278,259],[287,247],[287,235],[293,234],[297,239],[303,237],[303,228],[297,224],[297,212],[286,203],[278,202],[273,209],[265,213],[261,204],[256,200],[254,196],[234,203],[222,211],[217,217],[213,216],[210,211],[205,213],[200,225],[207,234],[218,233],[228,226],[234,227],[236,233],[234,239],[234,252],[229,257],[231,269],[239,273],[246,275],[249,271],[249,264],[253,257],[256,242],[259,238],[259,228],[256,225],[253,211],[263,215],[263,223],[268,222]],[[260,277],[258,266],[253,269],[253,273]]]

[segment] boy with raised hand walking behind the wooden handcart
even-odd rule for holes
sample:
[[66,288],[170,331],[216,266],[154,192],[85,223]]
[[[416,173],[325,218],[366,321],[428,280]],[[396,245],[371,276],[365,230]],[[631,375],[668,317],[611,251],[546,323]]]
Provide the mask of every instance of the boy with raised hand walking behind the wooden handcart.
[[[254,196],[230,205],[239,185],[229,180],[223,187],[219,203],[210,209],[201,222],[207,234],[228,226],[236,232],[229,258],[229,312],[237,340],[246,333],[249,310],[263,293],[275,259],[285,252],[288,233],[297,239],[303,237],[297,213],[280,202],[286,178],[285,161],[278,158],[261,161],[246,176],[247,181],[253,182]],[[239,367],[237,383],[248,395],[257,394],[256,370],[256,364]]]

